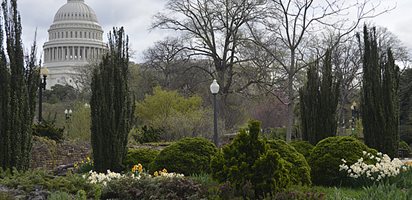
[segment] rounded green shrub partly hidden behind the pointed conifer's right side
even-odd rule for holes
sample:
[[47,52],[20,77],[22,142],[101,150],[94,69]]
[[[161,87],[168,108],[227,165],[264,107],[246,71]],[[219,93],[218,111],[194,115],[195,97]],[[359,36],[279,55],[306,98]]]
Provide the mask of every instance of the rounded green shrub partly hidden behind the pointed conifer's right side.
[[270,149],[279,153],[286,162],[290,163],[289,176],[295,185],[310,185],[310,167],[305,157],[296,151],[296,149],[283,140],[268,140],[267,144]]

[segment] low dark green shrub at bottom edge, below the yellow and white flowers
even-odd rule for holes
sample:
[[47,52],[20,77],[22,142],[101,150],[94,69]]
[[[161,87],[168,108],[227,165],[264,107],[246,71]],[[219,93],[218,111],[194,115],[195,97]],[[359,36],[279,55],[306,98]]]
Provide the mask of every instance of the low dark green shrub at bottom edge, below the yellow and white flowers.
[[110,181],[102,199],[205,199],[205,189],[188,178],[121,178]]

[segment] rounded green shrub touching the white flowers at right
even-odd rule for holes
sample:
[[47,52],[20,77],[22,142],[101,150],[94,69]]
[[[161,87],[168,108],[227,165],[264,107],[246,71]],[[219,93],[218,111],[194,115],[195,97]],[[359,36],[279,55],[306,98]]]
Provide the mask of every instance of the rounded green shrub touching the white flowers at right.
[[363,155],[363,151],[376,154],[361,141],[350,136],[325,138],[315,146],[309,158],[312,182],[316,185],[350,185],[346,172],[339,171],[342,159],[352,165]]

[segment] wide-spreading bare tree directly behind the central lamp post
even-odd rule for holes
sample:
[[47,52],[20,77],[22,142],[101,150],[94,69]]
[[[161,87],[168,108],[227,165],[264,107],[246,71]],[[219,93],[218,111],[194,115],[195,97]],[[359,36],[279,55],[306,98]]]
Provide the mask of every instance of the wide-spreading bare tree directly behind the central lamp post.
[[226,115],[228,95],[255,82],[251,80],[240,85],[235,77],[240,71],[236,68],[250,61],[239,54],[246,37],[245,25],[262,17],[263,1],[171,0],[167,10],[169,12],[155,16],[153,28],[182,33],[183,48],[189,57],[211,60],[211,66],[193,67],[203,70],[211,79],[217,79],[221,86],[221,111]]

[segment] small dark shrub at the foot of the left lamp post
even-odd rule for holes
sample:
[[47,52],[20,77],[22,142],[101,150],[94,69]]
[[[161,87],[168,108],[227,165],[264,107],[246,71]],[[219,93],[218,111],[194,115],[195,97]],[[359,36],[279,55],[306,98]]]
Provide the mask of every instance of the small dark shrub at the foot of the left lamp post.
[[58,128],[53,121],[43,120],[39,124],[33,125],[33,135],[47,137],[57,142],[63,141],[64,128]]

